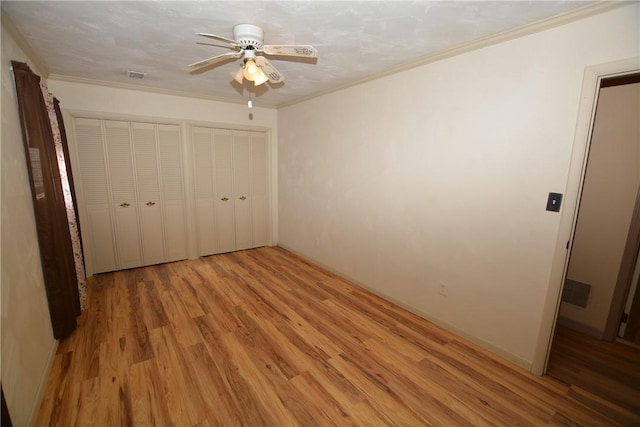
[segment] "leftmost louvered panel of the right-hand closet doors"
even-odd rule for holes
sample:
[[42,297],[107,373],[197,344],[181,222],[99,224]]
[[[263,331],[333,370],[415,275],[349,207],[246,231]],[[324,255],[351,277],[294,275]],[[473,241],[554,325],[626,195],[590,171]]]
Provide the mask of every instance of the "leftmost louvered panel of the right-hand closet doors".
[[198,254],[217,253],[213,195],[213,139],[208,128],[194,127],[191,132],[195,168],[196,228]]

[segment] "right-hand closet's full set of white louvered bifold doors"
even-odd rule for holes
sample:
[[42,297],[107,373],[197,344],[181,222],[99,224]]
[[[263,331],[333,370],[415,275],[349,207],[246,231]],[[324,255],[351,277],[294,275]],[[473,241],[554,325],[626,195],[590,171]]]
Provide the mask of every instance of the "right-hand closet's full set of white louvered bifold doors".
[[268,243],[264,133],[194,127],[200,255]]

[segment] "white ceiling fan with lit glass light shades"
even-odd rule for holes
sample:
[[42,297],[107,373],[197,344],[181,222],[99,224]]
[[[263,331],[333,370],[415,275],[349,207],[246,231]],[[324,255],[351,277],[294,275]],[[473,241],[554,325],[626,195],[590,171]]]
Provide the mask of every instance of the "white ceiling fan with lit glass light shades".
[[224,47],[235,52],[223,53],[202,61],[189,64],[189,67],[197,69],[210,67],[228,59],[242,58],[242,65],[231,72],[235,81],[242,84],[243,79],[247,79],[255,86],[265,83],[280,83],[284,81],[284,76],[269,62],[263,55],[298,58],[316,58],[318,51],[313,46],[308,45],[265,45],[262,28],[252,24],[238,24],[233,27],[233,40],[216,34],[197,33],[199,36],[208,37],[226,45],[211,43],[199,43],[210,46]]

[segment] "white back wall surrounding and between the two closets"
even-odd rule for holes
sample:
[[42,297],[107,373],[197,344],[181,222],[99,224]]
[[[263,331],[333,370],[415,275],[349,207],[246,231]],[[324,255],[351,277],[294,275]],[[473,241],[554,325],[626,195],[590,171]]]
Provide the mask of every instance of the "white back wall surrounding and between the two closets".
[[[213,125],[238,129],[255,129],[267,131],[270,135],[270,187],[271,187],[271,233],[272,242],[278,238],[277,222],[277,111],[271,108],[254,107],[249,110],[246,104],[232,104],[206,99],[188,98],[183,96],[138,91],[132,89],[100,86],[86,83],[68,82],[50,79],[48,86],[51,92],[60,100],[60,106],[65,113],[65,121],[71,116],[97,115],[99,117],[122,117],[135,120],[171,121],[182,126],[185,184],[187,187],[188,228],[190,230],[189,257],[196,258],[195,223],[192,221],[193,185],[192,185],[192,152],[191,125]],[[239,95],[240,96],[240,95]],[[72,164],[74,163],[75,141],[72,126],[66,123],[69,134],[69,146]],[[76,167],[76,170],[78,168]],[[77,186],[78,198],[81,199],[81,188]],[[80,209],[80,222],[83,220],[83,210]],[[89,266],[89,265],[88,265]],[[89,272],[90,273],[90,272]]]

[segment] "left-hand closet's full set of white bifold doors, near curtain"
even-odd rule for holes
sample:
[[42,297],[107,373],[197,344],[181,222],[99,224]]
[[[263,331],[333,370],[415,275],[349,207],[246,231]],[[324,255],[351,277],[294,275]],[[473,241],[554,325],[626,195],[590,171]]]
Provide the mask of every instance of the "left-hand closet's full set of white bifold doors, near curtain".
[[82,118],[74,124],[89,272],[185,259],[179,126]]

